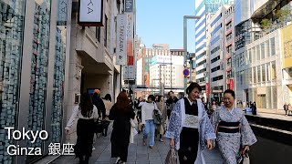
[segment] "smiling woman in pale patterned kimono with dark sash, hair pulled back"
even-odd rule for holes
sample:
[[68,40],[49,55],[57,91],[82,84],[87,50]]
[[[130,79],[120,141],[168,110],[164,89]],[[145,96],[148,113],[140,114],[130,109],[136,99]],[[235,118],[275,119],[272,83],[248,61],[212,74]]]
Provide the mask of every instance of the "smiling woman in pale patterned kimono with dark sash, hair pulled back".
[[238,156],[245,155],[256,142],[245,113],[235,108],[235,91],[224,91],[224,106],[214,111],[211,122],[217,131],[217,142],[226,164],[236,164]]

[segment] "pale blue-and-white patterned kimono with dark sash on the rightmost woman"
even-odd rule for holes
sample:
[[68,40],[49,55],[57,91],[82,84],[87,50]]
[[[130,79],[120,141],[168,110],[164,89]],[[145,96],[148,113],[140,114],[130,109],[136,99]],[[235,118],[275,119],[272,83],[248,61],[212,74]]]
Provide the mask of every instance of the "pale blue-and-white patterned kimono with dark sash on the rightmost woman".
[[250,128],[245,113],[240,108],[233,108],[230,112],[225,107],[217,108],[212,115],[211,122],[215,130],[220,121],[239,122],[239,133],[217,133],[217,143],[224,162],[236,164],[236,156],[245,145],[255,144],[255,134]]

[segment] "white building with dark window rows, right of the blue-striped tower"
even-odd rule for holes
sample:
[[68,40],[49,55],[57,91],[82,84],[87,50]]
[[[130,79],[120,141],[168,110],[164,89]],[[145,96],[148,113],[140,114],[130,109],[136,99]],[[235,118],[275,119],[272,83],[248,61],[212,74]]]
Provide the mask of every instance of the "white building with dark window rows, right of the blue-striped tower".
[[[211,99],[215,99],[217,102],[223,100],[223,92],[226,89],[226,66],[225,57],[226,46],[232,46],[233,43],[228,43],[225,40],[225,36],[232,35],[231,29],[225,32],[225,12],[231,5],[223,5],[213,15],[210,20],[210,47],[208,49],[209,54],[209,73],[210,73],[210,96]],[[232,37],[232,36],[230,36]],[[228,54],[231,55],[231,54]],[[197,67],[200,69],[200,67]],[[230,70],[229,70],[230,71]]]

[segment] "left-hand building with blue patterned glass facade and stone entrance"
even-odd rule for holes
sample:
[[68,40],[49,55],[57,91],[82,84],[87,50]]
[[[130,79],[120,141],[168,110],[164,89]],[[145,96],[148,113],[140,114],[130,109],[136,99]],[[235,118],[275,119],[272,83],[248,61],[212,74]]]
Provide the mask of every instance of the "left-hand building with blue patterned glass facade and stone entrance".
[[[47,156],[50,143],[75,143],[76,125],[69,135],[64,127],[80,94],[120,91],[115,16],[123,4],[103,5],[103,26],[80,26],[78,1],[0,1],[0,163],[32,163]],[[14,139],[5,127],[46,130],[48,137]],[[9,156],[12,145],[41,154]]]

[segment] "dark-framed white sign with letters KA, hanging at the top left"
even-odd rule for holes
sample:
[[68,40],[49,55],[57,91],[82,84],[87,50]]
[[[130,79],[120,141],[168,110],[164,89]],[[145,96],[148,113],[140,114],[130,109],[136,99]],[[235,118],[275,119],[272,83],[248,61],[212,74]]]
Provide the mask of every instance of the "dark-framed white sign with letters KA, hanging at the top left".
[[79,0],[78,24],[97,25],[102,24],[103,17],[102,0]]

